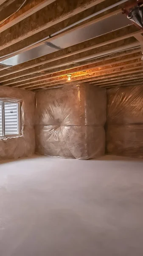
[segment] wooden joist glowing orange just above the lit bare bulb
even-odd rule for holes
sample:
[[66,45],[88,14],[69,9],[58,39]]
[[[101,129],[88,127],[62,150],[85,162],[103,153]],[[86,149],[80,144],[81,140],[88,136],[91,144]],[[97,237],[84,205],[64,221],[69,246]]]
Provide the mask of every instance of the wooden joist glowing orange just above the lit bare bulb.
[[[3,82],[3,85],[16,84],[15,86],[17,87],[17,86],[21,86],[21,85],[24,85],[24,84],[34,83],[35,81],[36,82],[37,81],[45,81],[45,80],[50,79],[50,78],[55,78],[55,77],[58,77],[58,76],[64,76],[64,75],[67,75],[69,73],[74,74],[77,71],[78,72],[79,71],[84,71],[85,72],[85,70],[89,70],[89,69],[95,68],[95,67],[104,67],[104,66],[107,66],[107,65],[119,64],[123,61],[125,61],[125,62],[128,61],[129,62],[129,61],[134,60],[134,62],[136,62],[136,61],[140,60],[141,56],[142,55],[140,54],[140,52],[137,52],[137,53],[134,53],[134,54],[123,56],[123,57],[117,57],[117,58],[113,58],[113,59],[112,58],[107,58],[107,60],[106,59],[101,60],[101,61],[98,60],[98,61],[95,61],[92,64],[87,64],[87,65],[84,65],[84,66],[81,66],[81,67],[78,66],[78,67],[75,67],[73,69],[64,70],[64,71],[61,71],[61,72],[59,71],[58,73],[55,73],[54,70],[53,70],[54,73],[51,73],[51,71],[50,71],[50,74],[48,74],[48,75],[43,76],[41,74],[41,76],[39,76],[39,77],[36,76],[35,78],[32,78],[32,79],[31,78],[25,79],[25,77],[24,77],[22,79],[9,80],[9,81]],[[111,59],[112,59],[112,61],[111,61]],[[23,81],[24,81],[24,83],[23,83]]]

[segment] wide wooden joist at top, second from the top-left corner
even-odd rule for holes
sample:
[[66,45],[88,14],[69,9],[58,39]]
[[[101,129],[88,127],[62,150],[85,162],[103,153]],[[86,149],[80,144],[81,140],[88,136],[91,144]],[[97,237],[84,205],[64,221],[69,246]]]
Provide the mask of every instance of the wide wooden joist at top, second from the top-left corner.
[[[0,34],[0,50],[16,44],[104,0],[57,0]],[[38,18],[38,23],[37,23]]]

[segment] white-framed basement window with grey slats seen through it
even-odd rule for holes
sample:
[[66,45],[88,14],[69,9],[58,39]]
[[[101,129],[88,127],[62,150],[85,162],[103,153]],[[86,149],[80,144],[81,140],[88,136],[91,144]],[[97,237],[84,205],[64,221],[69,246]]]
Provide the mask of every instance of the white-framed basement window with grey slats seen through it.
[[20,135],[20,103],[0,100],[0,137]]

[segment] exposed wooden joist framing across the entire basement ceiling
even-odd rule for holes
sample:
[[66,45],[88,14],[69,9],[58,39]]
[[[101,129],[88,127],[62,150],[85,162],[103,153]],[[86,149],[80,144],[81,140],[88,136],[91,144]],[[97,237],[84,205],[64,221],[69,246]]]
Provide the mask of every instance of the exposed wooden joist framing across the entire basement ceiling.
[[[142,84],[143,31],[132,23],[115,30],[111,27],[108,33],[63,49],[52,44],[53,39],[64,38],[77,29],[106,22],[134,1],[124,2],[1,0],[0,62],[38,49],[45,42],[56,51],[14,66],[1,63],[0,85],[36,91],[80,82],[106,88]],[[112,7],[115,3],[117,6]],[[71,82],[67,80],[68,74],[72,75]]]

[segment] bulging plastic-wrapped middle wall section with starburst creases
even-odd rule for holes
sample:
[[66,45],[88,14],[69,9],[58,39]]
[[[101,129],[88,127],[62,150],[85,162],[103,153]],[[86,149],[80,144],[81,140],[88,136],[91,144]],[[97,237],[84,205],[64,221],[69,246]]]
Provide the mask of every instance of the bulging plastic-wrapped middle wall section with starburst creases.
[[89,159],[104,154],[106,90],[89,84],[36,93],[36,151]]

